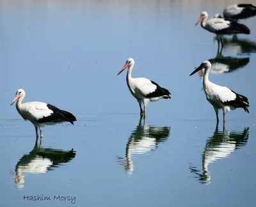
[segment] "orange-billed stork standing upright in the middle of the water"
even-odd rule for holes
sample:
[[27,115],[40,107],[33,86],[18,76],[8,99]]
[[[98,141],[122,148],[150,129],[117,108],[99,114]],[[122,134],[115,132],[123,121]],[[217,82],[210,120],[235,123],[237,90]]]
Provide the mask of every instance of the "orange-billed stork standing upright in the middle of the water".
[[[134,66],[134,59],[129,58],[127,59],[125,65],[123,68],[118,72],[117,75],[122,73],[125,68],[128,68],[127,76],[126,76],[126,82],[127,86],[134,98],[138,101],[140,105],[140,115],[144,116],[146,115],[146,107],[148,102],[156,102],[158,100],[161,100],[162,98],[168,99],[170,97],[170,92],[168,89],[161,88],[156,82],[150,81],[145,78],[136,78],[133,79],[131,77],[132,68]],[[143,102],[144,110],[141,108],[141,103]]]

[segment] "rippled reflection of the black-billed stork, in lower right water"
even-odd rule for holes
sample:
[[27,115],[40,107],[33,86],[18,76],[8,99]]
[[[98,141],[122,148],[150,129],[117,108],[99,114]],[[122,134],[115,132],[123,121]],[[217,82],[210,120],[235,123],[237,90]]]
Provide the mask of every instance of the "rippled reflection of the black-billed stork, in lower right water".
[[212,137],[209,137],[207,140],[204,153],[202,154],[202,173],[193,166],[189,167],[191,173],[196,174],[196,178],[198,178],[200,183],[211,183],[210,171],[208,169],[209,164],[228,157],[231,153],[240,149],[247,143],[248,137],[249,128],[244,128],[241,132],[228,132],[225,128],[219,131],[217,126]]

